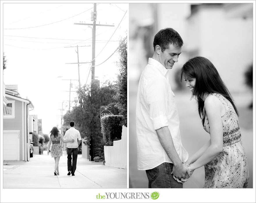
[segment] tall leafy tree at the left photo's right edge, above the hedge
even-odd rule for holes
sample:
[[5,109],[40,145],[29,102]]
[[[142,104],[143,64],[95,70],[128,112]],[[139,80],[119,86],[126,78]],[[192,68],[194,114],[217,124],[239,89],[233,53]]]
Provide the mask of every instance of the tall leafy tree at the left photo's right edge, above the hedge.
[[117,76],[117,83],[114,86],[115,96],[114,99],[117,102],[113,103],[120,112],[119,115],[124,116],[122,125],[127,127],[127,37],[120,39],[119,47],[119,74]]

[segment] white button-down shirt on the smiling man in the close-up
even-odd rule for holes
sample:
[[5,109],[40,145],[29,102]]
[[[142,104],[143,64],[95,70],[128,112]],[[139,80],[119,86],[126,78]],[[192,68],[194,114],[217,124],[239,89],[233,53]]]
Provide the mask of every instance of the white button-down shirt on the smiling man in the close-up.
[[181,143],[179,115],[168,72],[157,60],[149,58],[140,77],[136,103],[138,170],[152,169],[164,162],[172,163],[156,132],[164,126],[170,130],[181,161],[188,159]]

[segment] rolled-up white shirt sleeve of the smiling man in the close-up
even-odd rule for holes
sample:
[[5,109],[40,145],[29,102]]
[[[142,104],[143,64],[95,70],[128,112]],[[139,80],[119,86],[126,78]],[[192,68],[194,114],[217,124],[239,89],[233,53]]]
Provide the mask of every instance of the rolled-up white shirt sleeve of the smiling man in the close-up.
[[150,119],[157,130],[168,126],[168,86],[163,78],[154,78],[147,84],[146,102],[150,107]]

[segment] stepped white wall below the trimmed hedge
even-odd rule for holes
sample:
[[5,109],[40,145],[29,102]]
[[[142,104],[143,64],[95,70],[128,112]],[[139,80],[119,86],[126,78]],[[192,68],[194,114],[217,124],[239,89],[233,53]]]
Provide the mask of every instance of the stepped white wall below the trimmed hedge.
[[122,139],[113,146],[104,146],[105,165],[127,169],[127,127],[122,127]]

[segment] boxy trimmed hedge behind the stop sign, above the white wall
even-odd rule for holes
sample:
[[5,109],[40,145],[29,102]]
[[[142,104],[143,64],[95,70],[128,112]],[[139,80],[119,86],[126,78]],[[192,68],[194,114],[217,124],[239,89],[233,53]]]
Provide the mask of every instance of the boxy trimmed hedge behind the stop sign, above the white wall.
[[101,117],[101,132],[105,146],[113,146],[114,140],[120,140],[122,137],[122,115],[106,115]]

